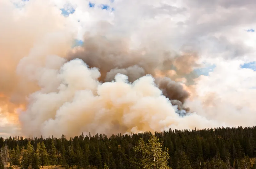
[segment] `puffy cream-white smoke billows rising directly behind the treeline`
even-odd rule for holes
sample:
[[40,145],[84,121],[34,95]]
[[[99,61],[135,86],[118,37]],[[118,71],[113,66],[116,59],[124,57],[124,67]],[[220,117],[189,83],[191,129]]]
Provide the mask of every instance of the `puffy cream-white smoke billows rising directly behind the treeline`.
[[[56,60],[48,61],[54,64]],[[30,96],[30,104],[20,117],[25,134],[71,136],[74,132],[111,134],[191,128],[198,126],[197,122],[202,127],[209,125],[196,114],[180,117],[177,106],[162,95],[151,75],[130,83],[126,75],[118,73],[114,81],[101,83],[99,69],[89,68],[80,59],[66,62],[59,71],[52,67],[44,70],[56,73],[48,76],[51,83]],[[46,93],[46,88],[57,90]]]

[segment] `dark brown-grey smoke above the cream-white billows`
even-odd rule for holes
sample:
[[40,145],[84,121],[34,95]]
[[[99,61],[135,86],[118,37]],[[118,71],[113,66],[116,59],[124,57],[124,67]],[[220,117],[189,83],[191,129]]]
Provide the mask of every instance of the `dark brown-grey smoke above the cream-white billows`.
[[[93,36],[87,34],[84,45],[70,52],[68,59],[80,58],[90,67],[99,68],[101,72],[99,80],[102,82],[113,81],[118,73],[127,75],[130,82],[151,74],[157,77],[156,84],[166,97],[185,103],[190,94],[174,80],[179,80],[193,71],[193,66],[197,66],[195,62],[197,55],[174,54],[173,51],[162,49],[158,45],[154,48],[141,45],[139,49],[131,49],[128,40],[113,37],[106,31],[104,33]],[[170,69],[173,74],[170,73]],[[169,74],[163,71],[169,71]],[[162,74],[159,75],[159,72]],[[173,101],[173,103],[177,102]]]

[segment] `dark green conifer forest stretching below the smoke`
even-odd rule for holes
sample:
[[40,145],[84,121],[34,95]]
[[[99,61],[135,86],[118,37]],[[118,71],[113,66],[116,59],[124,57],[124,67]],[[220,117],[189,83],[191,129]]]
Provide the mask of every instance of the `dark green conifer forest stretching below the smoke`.
[[[256,169],[256,126],[171,130],[132,135],[105,134],[66,138],[0,137],[1,163],[6,148],[11,166],[78,168]],[[157,154],[158,153],[158,154]],[[22,158],[20,158],[22,156]],[[161,164],[161,165],[160,165]],[[151,166],[151,167],[150,167]]]

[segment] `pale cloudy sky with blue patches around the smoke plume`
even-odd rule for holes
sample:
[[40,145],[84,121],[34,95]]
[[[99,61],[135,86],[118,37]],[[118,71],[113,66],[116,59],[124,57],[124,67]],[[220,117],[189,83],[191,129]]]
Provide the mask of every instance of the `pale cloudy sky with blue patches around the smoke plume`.
[[[86,43],[83,42],[86,32],[94,33],[96,23],[107,21],[116,28],[111,31],[130,38],[134,46],[153,39],[152,42],[162,42],[174,51],[184,47],[193,49],[198,52],[200,64],[194,68],[198,74],[195,82],[197,99],[188,101],[187,105],[198,115],[227,126],[250,126],[256,122],[255,0],[47,0],[42,7],[38,6],[38,0],[3,0],[1,3],[2,8],[8,6],[12,10],[7,12],[11,13],[13,25],[21,16],[34,19],[30,20],[31,23],[24,23],[27,25],[23,32],[35,30],[28,38],[40,38],[36,32],[55,30],[54,26],[59,24],[58,29],[61,27],[64,32],[72,34],[70,46],[81,46]],[[4,17],[5,12],[0,15]],[[48,18],[49,29],[43,29],[48,24],[44,19]],[[40,21],[44,24],[42,29]],[[17,33],[18,29],[12,31]],[[0,38],[7,37],[0,33]],[[6,41],[8,44],[10,41],[14,51],[19,50],[16,42],[22,42],[17,39]],[[34,43],[37,41],[30,44],[31,48]],[[5,44],[4,40],[0,41],[0,47]],[[6,59],[7,56],[2,53],[0,57]],[[199,108],[198,104],[205,101],[209,93],[215,96],[213,106]],[[219,111],[226,113],[221,115],[217,113]],[[232,122],[229,123],[228,119]],[[18,133],[15,122],[0,111],[0,136]]]

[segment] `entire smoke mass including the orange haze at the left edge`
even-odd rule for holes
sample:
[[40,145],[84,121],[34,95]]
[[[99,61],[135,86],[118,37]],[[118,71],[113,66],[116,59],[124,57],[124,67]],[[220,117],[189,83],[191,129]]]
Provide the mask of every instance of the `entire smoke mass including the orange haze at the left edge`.
[[[84,45],[70,50],[73,32],[62,26],[68,22],[54,6],[28,2],[17,20],[14,15],[22,11],[7,0],[1,3],[10,9],[9,20],[1,19],[6,28],[0,34],[1,113],[19,115],[12,123],[21,134],[130,133],[215,124],[196,114],[180,116],[188,111],[183,103],[189,93],[179,81],[193,71],[197,55],[177,54],[161,42],[133,48],[111,26],[86,34]],[[96,27],[105,28],[102,24]]]

